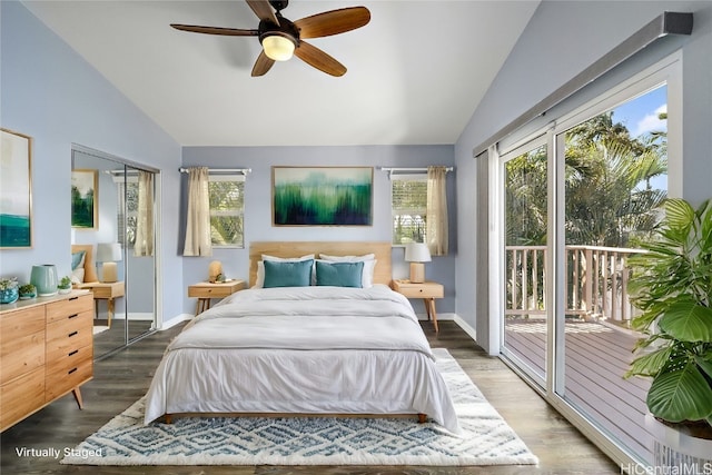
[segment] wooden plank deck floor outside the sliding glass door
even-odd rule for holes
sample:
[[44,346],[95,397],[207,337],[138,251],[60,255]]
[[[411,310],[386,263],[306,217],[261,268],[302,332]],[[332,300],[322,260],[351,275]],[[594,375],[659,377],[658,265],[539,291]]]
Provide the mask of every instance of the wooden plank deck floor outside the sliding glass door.
[[[594,420],[604,433],[644,461],[652,461],[645,429],[645,395],[650,382],[624,379],[636,337],[612,327],[586,321],[566,323],[564,398]],[[543,375],[546,323],[510,319],[505,345]]]

